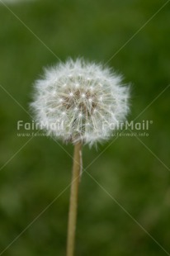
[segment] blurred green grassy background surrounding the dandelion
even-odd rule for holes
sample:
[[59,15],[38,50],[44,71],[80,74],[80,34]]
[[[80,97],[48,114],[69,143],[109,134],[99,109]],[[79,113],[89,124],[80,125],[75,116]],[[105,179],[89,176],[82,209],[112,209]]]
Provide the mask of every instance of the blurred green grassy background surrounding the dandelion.
[[[68,56],[105,64],[165,2],[21,1],[7,3],[11,12],[0,4],[0,255],[65,255],[72,159],[64,149],[73,154],[73,146],[17,136],[17,121],[31,122],[22,107],[42,67]],[[83,173],[76,255],[170,255],[170,3],[108,66],[132,83],[129,121],[166,90],[136,120],[153,121],[144,144],[120,137],[84,147],[83,166],[95,159],[87,172],[106,191]]]

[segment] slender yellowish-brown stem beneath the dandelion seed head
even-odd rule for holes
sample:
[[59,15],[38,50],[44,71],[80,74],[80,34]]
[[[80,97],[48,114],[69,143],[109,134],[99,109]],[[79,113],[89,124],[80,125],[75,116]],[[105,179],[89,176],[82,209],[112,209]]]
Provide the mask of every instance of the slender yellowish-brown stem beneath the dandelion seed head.
[[73,256],[75,244],[75,231],[78,208],[78,187],[81,176],[82,165],[82,145],[78,143],[74,146],[73,155],[73,174],[71,183],[71,194],[69,201],[68,213],[68,240],[67,240],[67,256]]

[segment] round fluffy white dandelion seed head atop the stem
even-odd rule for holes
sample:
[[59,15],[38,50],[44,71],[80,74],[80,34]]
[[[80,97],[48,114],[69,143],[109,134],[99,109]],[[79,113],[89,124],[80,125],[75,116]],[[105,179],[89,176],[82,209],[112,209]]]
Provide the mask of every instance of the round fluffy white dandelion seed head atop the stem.
[[73,144],[94,144],[108,140],[129,111],[129,87],[121,76],[102,64],[83,59],[45,69],[44,78],[35,81],[35,121],[48,135]]

